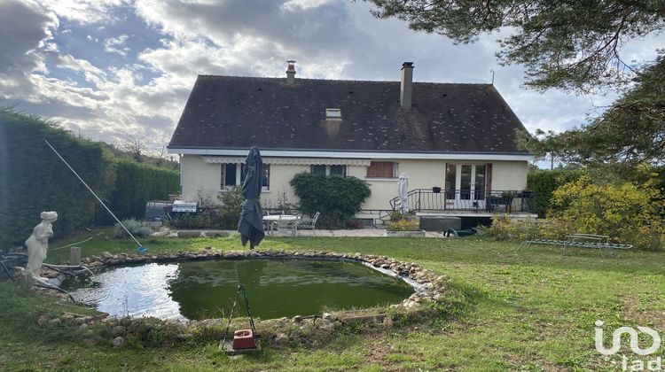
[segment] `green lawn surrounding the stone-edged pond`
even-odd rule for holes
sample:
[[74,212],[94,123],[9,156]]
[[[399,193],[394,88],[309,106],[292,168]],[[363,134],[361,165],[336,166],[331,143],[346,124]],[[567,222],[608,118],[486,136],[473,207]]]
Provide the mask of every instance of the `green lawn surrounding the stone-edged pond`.
[[[83,240],[96,232],[51,244]],[[239,238],[149,238],[151,252],[213,246],[243,249]],[[80,244],[83,255],[133,252],[129,240],[96,236]],[[596,251],[562,256],[554,247],[479,238],[268,238],[262,249],[382,254],[448,275],[446,311],[432,322],[390,331],[344,332],[319,348],[270,349],[230,359],[216,345],[192,343],[144,349],[86,346],[67,329],[40,329],[39,314],[67,311],[66,302],[20,292],[0,283],[0,366],[10,369],[199,370],[614,370],[593,346],[597,319],[606,333],[620,325],[649,326],[665,336],[665,252]],[[68,249],[49,252],[49,262]],[[661,355],[665,345],[661,347]],[[624,351],[628,352],[628,351]],[[630,353],[630,352],[628,352]],[[614,361],[619,360],[619,357]]]

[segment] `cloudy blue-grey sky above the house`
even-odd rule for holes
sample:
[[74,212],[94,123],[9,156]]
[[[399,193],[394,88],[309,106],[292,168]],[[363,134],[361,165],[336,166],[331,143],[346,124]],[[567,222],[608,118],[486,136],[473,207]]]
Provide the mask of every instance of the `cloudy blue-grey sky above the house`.
[[[560,131],[614,96],[540,94],[520,66],[497,66],[498,35],[453,45],[375,19],[348,0],[0,0],[0,105],[58,120],[75,134],[160,149],[176,127],[197,74],[489,82],[529,130]],[[630,43],[624,60],[653,59],[665,38]]]

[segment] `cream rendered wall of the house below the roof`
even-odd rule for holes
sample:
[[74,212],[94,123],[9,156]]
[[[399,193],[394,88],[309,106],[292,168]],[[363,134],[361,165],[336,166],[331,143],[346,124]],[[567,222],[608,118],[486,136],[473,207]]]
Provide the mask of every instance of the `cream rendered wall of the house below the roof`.
[[[409,190],[445,187],[446,160],[441,159],[380,159],[398,163],[397,175],[409,175]],[[492,190],[524,190],[527,186],[528,162],[521,161],[450,161],[451,164],[492,163]],[[181,160],[183,199],[215,202],[221,188],[220,164],[207,163],[200,155],[184,155]],[[367,167],[347,166],[347,174],[366,180],[372,189],[363,209],[388,209],[388,201],[397,195],[397,179],[365,178]],[[263,191],[264,207],[277,207],[280,202],[296,204],[297,198],[289,181],[293,175],[309,172],[304,165],[270,165],[270,190]]]

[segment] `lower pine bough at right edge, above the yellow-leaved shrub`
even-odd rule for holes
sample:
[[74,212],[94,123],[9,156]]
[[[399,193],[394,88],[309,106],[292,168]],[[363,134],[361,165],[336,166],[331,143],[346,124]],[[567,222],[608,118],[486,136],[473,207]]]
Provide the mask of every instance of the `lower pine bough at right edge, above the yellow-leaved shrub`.
[[599,118],[560,134],[520,134],[522,147],[536,156],[591,167],[630,170],[640,164],[665,162],[665,56],[638,74],[634,88]]

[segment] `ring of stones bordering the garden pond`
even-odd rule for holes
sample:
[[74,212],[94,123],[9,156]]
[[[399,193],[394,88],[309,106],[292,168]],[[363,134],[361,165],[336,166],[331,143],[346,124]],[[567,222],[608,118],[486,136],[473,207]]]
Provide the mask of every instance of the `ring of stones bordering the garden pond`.
[[[137,263],[167,263],[184,260],[245,260],[245,259],[282,259],[282,260],[341,260],[356,262],[371,267],[382,274],[403,280],[415,290],[409,298],[401,303],[387,307],[362,309],[357,311],[339,311],[325,313],[323,315],[296,315],[292,319],[279,318],[269,320],[256,320],[257,334],[262,339],[267,339],[273,345],[289,345],[299,342],[307,342],[316,345],[317,340],[329,338],[336,329],[347,325],[369,328],[392,328],[395,321],[400,319],[424,319],[428,314],[435,314],[434,304],[441,302],[448,290],[448,278],[445,275],[437,275],[429,269],[424,269],[416,263],[407,263],[400,260],[388,258],[387,256],[362,254],[362,253],[340,253],[325,251],[284,251],[284,250],[253,250],[253,251],[217,251],[207,246],[197,252],[164,252],[159,254],[137,254],[120,253],[111,254],[103,252],[99,256],[90,256],[82,260],[83,266],[91,269],[96,267],[116,267]],[[43,270],[43,274],[53,277],[56,281],[64,280],[64,275]],[[51,291],[52,292],[52,291]],[[141,322],[144,318],[132,318],[130,322]],[[241,319],[241,318],[239,318]],[[85,316],[80,314],[66,313],[59,318],[49,319],[43,315],[38,320],[41,326],[53,326],[62,324],[74,324],[79,331],[85,332],[93,325],[106,325],[110,327],[113,339],[110,341],[114,346],[124,344],[124,338],[128,336],[127,327],[121,324],[127,323],[128,319],[106,318],[103,316]],[[175,325],[180,328],[177,339],[184,341],[196,337],[197,334],[210,334],[205,329],[216,328],[226,325],[228,319],[207,319],[202,321],[162,321],[164,324]],[[122,328],[122,329],[120,329]],[[314,341],[312,341],[312,339]]]

